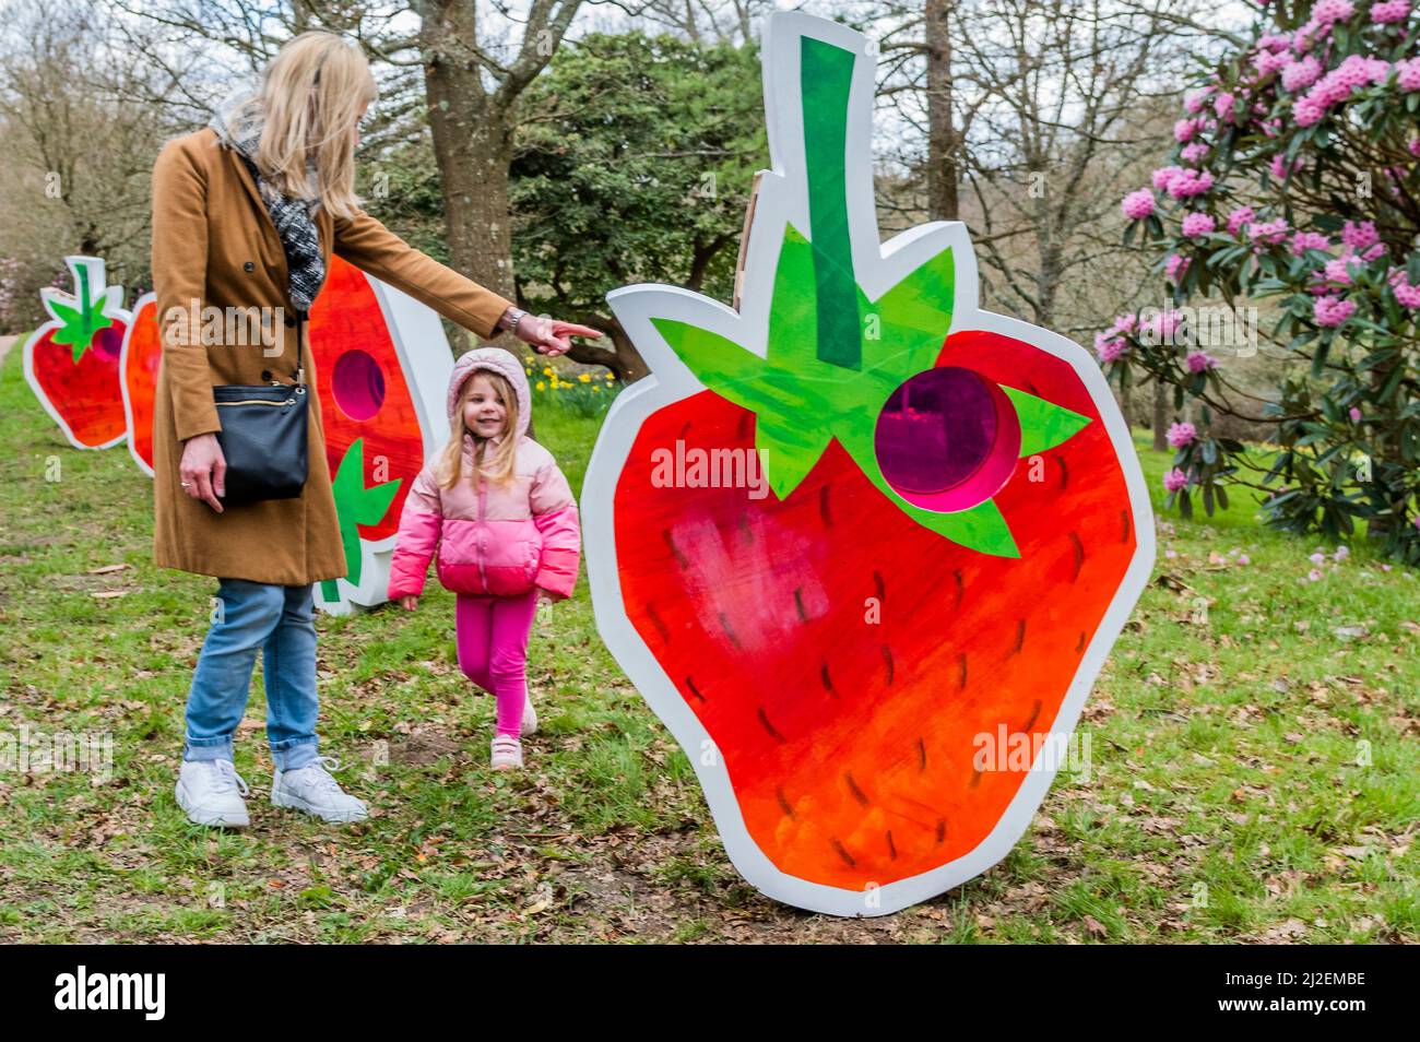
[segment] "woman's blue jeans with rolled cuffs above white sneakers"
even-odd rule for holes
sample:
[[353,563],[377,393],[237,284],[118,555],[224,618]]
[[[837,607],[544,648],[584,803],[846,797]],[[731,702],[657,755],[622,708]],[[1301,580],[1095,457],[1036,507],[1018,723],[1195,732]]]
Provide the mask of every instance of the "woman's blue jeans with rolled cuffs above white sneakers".
[[315,602],[311,586],[219,579],[222,606],[202,645],[187,693],[183,759],[231,759],[247,708],[251,670],[263,653],[267,741],[278,771],[297,771],[317,752]]

